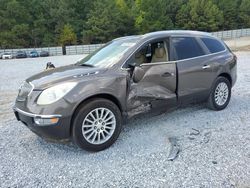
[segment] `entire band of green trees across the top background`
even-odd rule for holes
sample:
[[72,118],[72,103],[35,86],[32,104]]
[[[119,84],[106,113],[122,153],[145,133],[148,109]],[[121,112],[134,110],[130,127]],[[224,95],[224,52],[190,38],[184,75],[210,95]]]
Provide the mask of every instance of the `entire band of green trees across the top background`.
[[1,0],[0,47],[103,43],[167,29],[250,27],[250,0]]

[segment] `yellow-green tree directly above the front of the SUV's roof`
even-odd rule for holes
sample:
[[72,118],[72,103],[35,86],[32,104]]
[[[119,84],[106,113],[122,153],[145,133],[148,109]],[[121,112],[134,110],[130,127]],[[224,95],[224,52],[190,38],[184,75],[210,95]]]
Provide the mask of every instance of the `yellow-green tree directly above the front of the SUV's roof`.
[[135,27],[139,33],[166,30],[173,27],[173,23],[166,13],[165,0],[136,0]]

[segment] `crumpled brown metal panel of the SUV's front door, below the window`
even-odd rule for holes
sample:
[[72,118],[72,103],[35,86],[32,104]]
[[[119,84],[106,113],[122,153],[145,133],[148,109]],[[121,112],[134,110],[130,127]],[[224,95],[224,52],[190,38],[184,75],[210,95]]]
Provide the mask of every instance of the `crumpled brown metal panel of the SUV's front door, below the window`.
[[140,66],[142,78],[131,80],[128,107],[131,116],[152,109],[168,109],[176,104],[175,62],[149,63]]

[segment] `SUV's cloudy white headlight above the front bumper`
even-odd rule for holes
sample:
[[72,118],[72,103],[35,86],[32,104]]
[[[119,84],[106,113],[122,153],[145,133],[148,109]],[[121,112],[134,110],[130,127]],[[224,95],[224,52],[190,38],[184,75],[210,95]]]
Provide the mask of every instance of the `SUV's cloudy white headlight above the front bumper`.
[[50,87],[44,90],[40,94],[37,100],[37,104],[46,105],[46,104],[54,103],[58,101],[59,99],[61,99],[64,95],[66,95],[75,86],[76,86],[75,82],[67,82],[67,83],[63,83],[63,84]]

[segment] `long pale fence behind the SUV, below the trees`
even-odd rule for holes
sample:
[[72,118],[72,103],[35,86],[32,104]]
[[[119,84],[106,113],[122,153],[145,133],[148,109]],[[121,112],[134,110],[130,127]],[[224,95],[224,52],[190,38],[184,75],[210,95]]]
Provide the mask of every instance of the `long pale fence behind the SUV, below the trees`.
[[[211,33],[213,36],[218,37],[223,40],[236,39],[240,37],[250,37],[249,29],[237,29],[229,31],[218,31]],[[76,55],[76,54],[90,54],[102,47],[104,44],[91,44],[91,45],[75,45],[66,46],[66,55]],[[46,47],[46,48],[22,48],[22,49],[0,49],[0,54],[4,52],[9,52],[15,55],[18,51],[25,51],[29,54],[31,51],[36,50],[39,54],[41,51],[48,51],[50,56],[63,55],[62,47]]]

